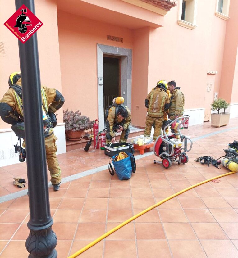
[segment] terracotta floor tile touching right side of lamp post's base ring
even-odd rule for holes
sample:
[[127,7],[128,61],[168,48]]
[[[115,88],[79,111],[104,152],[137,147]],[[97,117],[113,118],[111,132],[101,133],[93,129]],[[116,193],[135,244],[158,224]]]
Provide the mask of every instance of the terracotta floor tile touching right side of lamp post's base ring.
[[54,223],[52,229],[58,240],[73,240],[76,227],[77,223]]

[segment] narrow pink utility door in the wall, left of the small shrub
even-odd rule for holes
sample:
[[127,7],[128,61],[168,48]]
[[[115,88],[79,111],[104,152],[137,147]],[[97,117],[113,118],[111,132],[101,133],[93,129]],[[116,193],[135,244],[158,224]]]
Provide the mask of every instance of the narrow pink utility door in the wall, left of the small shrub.
[[205,89],[205,97],[204,97],[204,122],[210,121],[211,117],[211,103],[214,100],[214,82],[215,75],[207,75],[207,84]]

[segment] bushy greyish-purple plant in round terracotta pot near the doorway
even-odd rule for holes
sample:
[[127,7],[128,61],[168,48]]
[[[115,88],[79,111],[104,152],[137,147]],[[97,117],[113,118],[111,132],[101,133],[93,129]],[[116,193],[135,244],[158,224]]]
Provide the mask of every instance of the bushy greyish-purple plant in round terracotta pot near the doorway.
[[63,120],[65,123],[66,138],[69,140],[82,138],[84,130],[89,129],[91,126],[89,117],[81,115],[79,110],[74,112],[66,109],[66,111],[63,111]]

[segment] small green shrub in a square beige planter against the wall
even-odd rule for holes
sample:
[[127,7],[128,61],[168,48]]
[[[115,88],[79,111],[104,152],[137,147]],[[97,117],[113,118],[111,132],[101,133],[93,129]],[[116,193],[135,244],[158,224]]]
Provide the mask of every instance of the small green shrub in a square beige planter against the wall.
[[[225,113],[228,106],[230,106],[230,104],[222,98],[215,99],[212,102],[211,109],[213,111],[217,110],[217,113],[211,114],[211,126],[220,127],[229,123],[230,113]],[[224,109],[224,112],[221,112],[221,109]]]

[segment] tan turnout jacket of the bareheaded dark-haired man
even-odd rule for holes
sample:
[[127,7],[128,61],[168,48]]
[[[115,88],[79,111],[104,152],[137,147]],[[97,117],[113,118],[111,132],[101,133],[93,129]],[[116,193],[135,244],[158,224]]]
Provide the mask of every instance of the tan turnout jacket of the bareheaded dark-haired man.
[[169,116],[183,115],[183,111],[184,94],[181,92],[180,87],[176,87],[170,97]]

